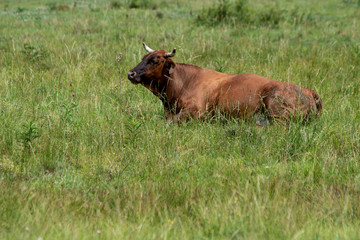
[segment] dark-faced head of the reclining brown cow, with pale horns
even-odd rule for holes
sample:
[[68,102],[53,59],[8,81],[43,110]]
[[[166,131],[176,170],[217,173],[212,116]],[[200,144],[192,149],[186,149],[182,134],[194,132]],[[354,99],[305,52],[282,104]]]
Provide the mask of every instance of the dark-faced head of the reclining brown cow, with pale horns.
[[145,43],[143,45],[148,54],[128,72],[129,80],[134,84],[151,84],[153,81],[159,81],[165,76],[170,76],[175,67],[175,63],[170,57],[175,56],[176,48],[169,53],[164,50],[152,50]]

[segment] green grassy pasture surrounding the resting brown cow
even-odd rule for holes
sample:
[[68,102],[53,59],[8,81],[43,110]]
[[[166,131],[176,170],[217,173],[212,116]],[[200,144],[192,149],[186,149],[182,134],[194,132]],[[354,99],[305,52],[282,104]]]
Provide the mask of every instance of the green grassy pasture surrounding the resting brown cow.
[[[0,239],[359,239],[359,14],[357,0],[1,1]],[[126,79],[143,41],[314,89],[323,113],[168,123]]]

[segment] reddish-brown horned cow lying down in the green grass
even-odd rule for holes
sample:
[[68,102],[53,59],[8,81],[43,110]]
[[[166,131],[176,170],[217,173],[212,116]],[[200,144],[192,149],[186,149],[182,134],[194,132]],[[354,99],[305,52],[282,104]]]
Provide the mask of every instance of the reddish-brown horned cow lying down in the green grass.
[[219,110],[235,117],[261,113],[266,116],[266,123],[257,123],[268,125],[268,119],[308,119],[321,112],[321,99],[313,90],[252,73],[226,74],[175,63],[171,60],[175,48],[168,53],[143,45],[149,53],[128,72],[128,78],[160,98],[168,120],[202,118]]

